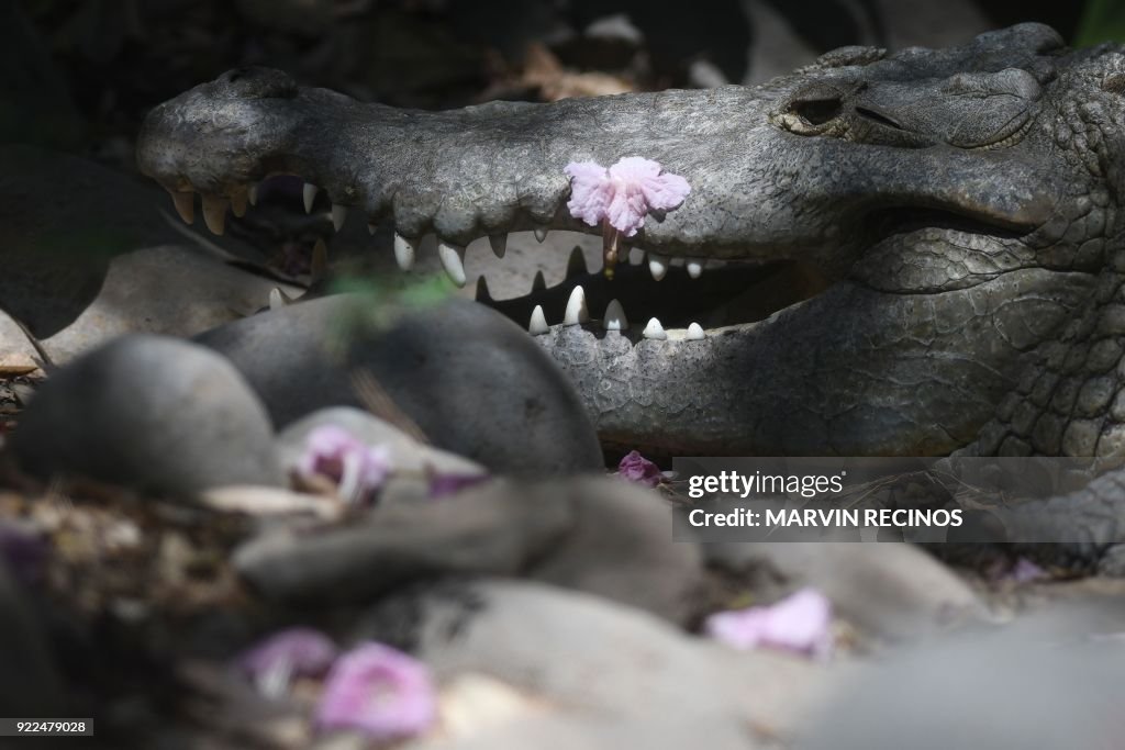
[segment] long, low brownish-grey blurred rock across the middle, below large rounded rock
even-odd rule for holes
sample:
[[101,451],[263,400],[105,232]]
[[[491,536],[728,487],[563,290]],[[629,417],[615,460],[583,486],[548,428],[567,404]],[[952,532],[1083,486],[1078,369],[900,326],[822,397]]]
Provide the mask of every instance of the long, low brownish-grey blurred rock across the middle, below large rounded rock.
[[362,524],[266,534],[235,566],[268,598],[366,603],[424,577],[525,576],[675,622],[698,613],[698,548],[672,541],[655,493],[612,479],[493,480],[438,501],[378,507]]

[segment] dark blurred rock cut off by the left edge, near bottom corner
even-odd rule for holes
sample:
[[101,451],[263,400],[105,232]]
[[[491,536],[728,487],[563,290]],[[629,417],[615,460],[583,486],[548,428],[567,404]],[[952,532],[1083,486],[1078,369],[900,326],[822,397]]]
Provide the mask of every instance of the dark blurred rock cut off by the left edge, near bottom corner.
[[66,696],[42,624],[0,560],[0,711],[6,716],[62,716]]

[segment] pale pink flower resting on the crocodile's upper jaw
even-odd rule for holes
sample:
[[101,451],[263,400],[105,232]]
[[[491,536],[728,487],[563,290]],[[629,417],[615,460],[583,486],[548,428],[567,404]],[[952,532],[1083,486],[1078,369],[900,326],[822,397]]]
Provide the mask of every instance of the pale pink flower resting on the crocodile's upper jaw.
[[608,222],[627,237],[645,226],[650,211],[676,208],[691,186],[678,174],[662,173],[658,162],[628,156],[606,170],[596,162],[570,162],[570,215],[590,226]]

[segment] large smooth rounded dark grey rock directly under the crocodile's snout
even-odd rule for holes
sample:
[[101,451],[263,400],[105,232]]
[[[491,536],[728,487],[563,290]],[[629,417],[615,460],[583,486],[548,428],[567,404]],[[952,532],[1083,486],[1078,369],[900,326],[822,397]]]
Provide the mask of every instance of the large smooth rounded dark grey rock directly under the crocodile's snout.
[[360,297],[340,295],[197,341],[234,362],[279,426],[324,407],[360,406],[359,371],[434,445],[490,471],[538,477],[602,467],[574,387],[511,320],[460,300],[406,313],[382,329],[363,325],[364,313]]

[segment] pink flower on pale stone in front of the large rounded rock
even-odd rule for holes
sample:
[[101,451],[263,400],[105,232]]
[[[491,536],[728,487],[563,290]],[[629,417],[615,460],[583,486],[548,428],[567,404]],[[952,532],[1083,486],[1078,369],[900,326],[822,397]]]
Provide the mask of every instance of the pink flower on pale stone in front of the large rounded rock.
[[369,501],[390,471],[386,448],[367,445],[336,425],[321,425],[305,442],[305,453],[297,462],[297,473],[312,478],[327,477],[339,486],[340,497]]

